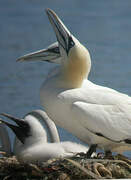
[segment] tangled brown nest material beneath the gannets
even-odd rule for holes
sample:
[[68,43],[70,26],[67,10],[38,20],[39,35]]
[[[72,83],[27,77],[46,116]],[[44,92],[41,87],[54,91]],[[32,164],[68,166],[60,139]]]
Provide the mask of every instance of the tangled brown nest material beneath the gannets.
[[[121,160],[120,160],[121,159]],[[43,163],[21,163],[15,156],[0,158],[0,180],[78,180],[131,178],[131,160],[123,156],[86,159],[85,155]]]

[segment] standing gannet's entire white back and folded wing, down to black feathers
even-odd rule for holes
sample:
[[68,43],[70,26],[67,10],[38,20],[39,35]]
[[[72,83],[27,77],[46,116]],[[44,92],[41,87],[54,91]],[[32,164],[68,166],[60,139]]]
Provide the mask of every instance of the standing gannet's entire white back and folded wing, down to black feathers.
[[72,115],[84,128],[112,141],[131,143],[131,97],[88,81],[85,84],[59,93],[59,99],[72,107]]

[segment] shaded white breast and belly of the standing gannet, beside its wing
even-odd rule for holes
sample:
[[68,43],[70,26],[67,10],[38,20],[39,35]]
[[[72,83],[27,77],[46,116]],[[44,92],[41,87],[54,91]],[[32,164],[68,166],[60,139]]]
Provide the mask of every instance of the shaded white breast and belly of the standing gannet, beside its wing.
[[80,139],[89,142],[87,130],[81,126],[80,121],[72,113],[72,103],[65,103],[61,99],[60,95],[64,91],[66,90],[57,87],[51,88],[51,84],[43,84],[40,90],[41,105],[56,125],[66,129],[77,137],[81,134]]

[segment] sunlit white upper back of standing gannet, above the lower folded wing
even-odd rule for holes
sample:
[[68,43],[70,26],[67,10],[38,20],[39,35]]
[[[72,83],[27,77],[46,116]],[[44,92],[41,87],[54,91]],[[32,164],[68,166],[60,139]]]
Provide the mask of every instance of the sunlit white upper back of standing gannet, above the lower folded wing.
[[129,97],[128,95],[122,94],[111,88],[96,86],[93,83],[90,86],[86,86],[84,88],[62,91],[61,93],[59,93],[58,97],[67,104],[72,104],[74,102],[80,101],[98,105],[131,105],[131,97]]

